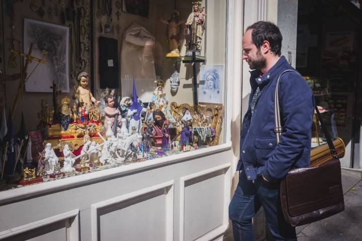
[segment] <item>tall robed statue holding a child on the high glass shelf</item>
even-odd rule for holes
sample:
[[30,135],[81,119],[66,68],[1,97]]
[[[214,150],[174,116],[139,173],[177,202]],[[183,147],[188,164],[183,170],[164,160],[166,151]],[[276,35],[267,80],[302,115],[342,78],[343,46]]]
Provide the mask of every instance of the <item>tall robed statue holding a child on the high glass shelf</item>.
[[187,27],[187,53],[186,55],[192,55],[195,52],[197,56],[200,56],[201,41],[205,28],[205,14],[200,13],[201,3],[200,1],[193,2],[193,12],[189,15],[186,21]]

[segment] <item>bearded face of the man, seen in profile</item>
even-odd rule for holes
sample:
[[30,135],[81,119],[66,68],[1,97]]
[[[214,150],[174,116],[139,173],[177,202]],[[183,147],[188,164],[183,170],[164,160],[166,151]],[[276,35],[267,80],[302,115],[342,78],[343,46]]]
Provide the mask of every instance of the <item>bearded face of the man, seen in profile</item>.
[[262,56],[260,49],[256,48],[251,38],[252,29],[245,32],[243,36],[243,55],[242,59],[245,60],[250,69],[262,69],[266,66],[266,60]]

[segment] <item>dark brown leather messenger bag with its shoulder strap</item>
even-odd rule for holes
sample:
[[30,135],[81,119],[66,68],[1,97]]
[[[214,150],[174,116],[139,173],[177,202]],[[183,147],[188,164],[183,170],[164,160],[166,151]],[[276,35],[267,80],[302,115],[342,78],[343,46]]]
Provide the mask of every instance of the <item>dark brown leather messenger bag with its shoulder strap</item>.
[[[294,70],[286,70],[282,74],[288,71]],[[278,93],[282,74],[278,78],[275,92],[277,143],[281,139],[283,131]],[[291,169],[282,180],[280,198],[283,214],[285,220],[292,226],[318,221],[344,210],[341,167],[338,159],[341,156],[334,148],[317,106],[316,113],[327,139],[331,158],[319,166]],[[342,153],[344,154],[344,151]]]

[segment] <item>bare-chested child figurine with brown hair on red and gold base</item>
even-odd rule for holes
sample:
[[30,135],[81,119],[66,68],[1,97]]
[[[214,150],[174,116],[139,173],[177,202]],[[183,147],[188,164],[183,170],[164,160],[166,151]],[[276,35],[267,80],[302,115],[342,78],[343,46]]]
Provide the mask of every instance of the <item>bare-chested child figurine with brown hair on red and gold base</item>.
[[[96,103],[96,105],[100,102],[93,97],[91,90],[89,90],[88,81],[89,81],[89,74],[86,72],[80,72],[77,76],[77,81],[79,82],[79,86],[75,90],[75,97],[78,100],[78,103],[86,104],[90,106],[92,102]],[[81,111],[83,105],[79,105],[78,111]],[[84,106],[85,111],[85,106]]]

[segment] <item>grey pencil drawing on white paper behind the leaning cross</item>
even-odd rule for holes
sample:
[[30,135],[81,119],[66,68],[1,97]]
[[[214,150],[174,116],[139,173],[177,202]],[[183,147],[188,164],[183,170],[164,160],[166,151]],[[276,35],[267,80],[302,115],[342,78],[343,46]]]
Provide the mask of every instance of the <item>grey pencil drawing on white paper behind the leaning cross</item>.
[[[31,44],[34,44],[31,55],[42,58],[45,51],[48,56],[44,59],[48,64],[39,64],[33,61],[28,66],[28,74],[36,67],[25,84],[28,92],[52,92],[53,82],[62,92],[69,92],[68,74],[68,45],[69,28],[24,19],[24,52],[28,53]],[[25,61],[25,60],[24,60]]]

